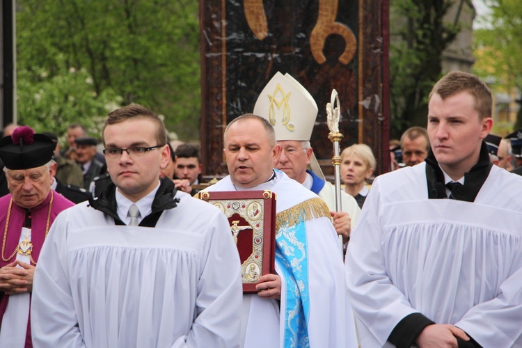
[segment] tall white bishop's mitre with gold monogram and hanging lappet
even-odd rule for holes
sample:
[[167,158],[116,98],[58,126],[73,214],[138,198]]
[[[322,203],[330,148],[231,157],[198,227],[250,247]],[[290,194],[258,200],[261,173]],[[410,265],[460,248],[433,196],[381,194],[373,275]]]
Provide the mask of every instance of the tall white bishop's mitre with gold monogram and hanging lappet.
[[[261,91],[253,113],[269,120],[277,141],[310,141],[317,118],[317,104],[308,90],[290,74],[277,72]],[[314,153],[310,168],[324,179]]]

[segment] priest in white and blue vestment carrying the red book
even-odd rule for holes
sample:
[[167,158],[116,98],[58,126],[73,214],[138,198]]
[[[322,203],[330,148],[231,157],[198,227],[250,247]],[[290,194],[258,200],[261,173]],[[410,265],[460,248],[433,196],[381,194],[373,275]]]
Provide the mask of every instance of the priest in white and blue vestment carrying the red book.
[[357,347],[329,208],[273,169],[280,145],[266,119],[235,118],[224,142],[230,175],[203,191],[277,195],[276,274],[260,277],[258,294],[243,295],[241,347]]

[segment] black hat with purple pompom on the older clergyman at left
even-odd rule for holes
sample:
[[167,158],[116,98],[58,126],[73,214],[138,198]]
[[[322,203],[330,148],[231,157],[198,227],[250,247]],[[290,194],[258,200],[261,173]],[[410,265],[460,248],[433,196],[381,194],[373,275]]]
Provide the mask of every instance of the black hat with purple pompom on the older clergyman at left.
[[31,127],[17,127],[11,136],[0,140],[0,159],[8,169],[29,169],[43,166],[53,157],[54,143]]

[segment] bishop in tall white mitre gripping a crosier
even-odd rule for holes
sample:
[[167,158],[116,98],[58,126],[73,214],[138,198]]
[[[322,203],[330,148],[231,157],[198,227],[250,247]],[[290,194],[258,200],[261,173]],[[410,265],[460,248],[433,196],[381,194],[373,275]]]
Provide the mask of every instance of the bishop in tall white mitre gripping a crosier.
[[[342,211],[335,211],[335,187],[324,180],[310,146],[310,136],[317,118],[317,104],[312,95],[290,74],[277,72],[260,93],[254,113],[269,120],[276,132],[281,150],[274,167],[326,202],[335,230],[347,242],[361,209],[353,197],[340,191]],[[313,171],[307,169],[308,165]]]

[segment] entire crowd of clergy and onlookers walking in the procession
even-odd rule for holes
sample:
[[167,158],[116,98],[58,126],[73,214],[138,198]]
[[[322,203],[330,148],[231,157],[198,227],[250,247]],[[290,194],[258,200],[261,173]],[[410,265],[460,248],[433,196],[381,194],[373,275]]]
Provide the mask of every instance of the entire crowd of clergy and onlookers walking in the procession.
[[[228,176],[207,187],[197,146],[173,148],[143,106],[109,113],[102,153],[81,125],[63,150],[13,127],[0,347],[522,347],[522,132],[489,134],[491,108],[480,79],[445,75],[427,127],[390,142],[395,170],[374,177],[372,149],[351,145],[338,193],[310,145],[317,104],[289,74],[227,125]],[[200,189],[276,193],[256,293]]]

